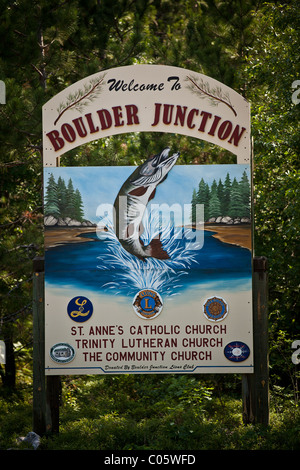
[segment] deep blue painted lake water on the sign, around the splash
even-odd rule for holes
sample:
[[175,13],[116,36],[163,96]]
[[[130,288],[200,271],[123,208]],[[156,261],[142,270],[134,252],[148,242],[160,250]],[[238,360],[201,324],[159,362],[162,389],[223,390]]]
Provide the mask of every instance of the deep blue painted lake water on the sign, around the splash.
[[222,281],[238,288],[251,279],[251,252],[223,243],[204,232],[201,249],[189,251],[184,239],[172,242],[170,261],[146,262],[129,255],[115,238],[68,244],[46,252],[46,282],[51,286],[85,288],[98,293],[132,295],[154,288],[174,295],[193,285]]

